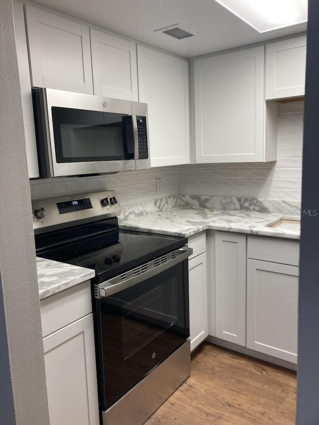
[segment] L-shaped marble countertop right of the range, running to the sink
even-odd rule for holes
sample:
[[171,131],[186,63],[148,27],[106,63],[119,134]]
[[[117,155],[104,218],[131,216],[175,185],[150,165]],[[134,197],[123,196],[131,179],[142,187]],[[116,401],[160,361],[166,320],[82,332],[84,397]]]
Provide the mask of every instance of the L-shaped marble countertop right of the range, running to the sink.
[[[269,227],[286,217],[280,213],[175,207],[122,220],[122,229],[191,236],[207,229],[300,239],[300,229]],[[298,219],[298,218],[297,218]],[[292,227],[292,226],[291,226]]]

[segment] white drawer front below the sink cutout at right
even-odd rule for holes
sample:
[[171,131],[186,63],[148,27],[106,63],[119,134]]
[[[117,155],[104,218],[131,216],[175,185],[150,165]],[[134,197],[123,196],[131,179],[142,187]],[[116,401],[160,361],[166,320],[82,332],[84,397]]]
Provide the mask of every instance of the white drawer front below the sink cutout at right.
[[299,266],[299,241],[248,236],[247,257]]

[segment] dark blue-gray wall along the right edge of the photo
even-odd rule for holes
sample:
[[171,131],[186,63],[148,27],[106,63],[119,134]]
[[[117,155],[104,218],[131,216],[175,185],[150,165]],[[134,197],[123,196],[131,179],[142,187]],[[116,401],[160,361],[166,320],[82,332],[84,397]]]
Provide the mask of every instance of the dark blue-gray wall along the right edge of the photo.
[[[319,2],[309,0],[302,209],[319,213]],[[314,212],[316,213],[316,212]],[[298,425],[319,424],[319,215],[304,215],[298,327]]]

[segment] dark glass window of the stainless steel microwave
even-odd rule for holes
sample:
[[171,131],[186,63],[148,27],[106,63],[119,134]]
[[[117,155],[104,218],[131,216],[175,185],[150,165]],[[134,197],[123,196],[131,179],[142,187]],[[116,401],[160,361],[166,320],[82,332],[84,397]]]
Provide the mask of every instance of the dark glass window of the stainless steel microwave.
[[[52,107],[58,163],[134,158],[128,146],[132,118],[126,114]],[[133,156],[132,156],[133,155]]]

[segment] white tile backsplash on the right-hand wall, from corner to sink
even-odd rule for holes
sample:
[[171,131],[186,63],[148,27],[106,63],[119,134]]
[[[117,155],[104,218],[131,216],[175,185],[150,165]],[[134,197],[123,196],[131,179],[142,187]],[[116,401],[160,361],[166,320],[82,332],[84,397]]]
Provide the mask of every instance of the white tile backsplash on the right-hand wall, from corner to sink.
[[277,161],[184,166],[180,194],[300,202],[303,120],[303,102],[281,105]]

